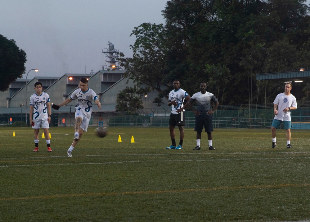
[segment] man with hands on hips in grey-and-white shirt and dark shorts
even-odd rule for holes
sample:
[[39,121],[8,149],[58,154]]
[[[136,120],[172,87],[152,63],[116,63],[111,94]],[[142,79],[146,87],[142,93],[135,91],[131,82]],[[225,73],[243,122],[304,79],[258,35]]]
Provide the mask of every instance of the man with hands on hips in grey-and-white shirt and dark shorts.
[[[194,110],[192,103],[196,101],[197,111]],[[211,110],[210,102],[215,103],[214,108]],[[212,146],[212,114],[218,108],[218,99],[212,93],[207,92],[207,84],[202,82],[200,84],[200,92],[195,93],[188,104],[193,113],[195,113],[195,131],[197,146],[193,150],[200,150],[201,132],[204,131],[208,134],[209,150],[215,150]]]

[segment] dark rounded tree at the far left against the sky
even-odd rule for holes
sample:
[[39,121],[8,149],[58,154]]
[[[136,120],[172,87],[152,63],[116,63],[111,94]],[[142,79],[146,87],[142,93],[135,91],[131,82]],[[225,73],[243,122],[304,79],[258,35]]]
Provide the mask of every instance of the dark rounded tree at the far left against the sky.
[[6,91],[11,82],[23,77],[23,74],[26,72],[26,58],[25,51],[16,46],[14,39],[8,40],[3,35],[0,35],[1,92]]

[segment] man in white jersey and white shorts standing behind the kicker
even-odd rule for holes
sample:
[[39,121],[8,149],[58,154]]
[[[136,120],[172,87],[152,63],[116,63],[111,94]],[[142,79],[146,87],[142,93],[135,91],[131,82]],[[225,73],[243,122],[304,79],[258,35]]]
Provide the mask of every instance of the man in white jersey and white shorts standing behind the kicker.
[[[48,133],[50,128],[49,123],[51,122],[51,102],[50,97],[47,93],[43,92],[41,82],[34,84],[35,93],[30,96],[29,103],[29,123],[34,129],[34,152],[39,151],[39,132],[42,127],[45,141],[47,144],[47,152],[52,152],[51,140]],[[33,117],[32,117],[33,115]]]

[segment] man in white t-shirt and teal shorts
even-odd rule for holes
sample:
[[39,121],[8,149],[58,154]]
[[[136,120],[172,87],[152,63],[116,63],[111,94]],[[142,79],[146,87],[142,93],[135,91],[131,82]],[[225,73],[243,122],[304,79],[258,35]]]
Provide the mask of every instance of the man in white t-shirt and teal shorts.
[[[297,109],[297,101],[295,96],[290,92],[292,90],[292,84],[286,83],[284,93],[280,93],[276,96],[273,102],[273,113],[275,117],[271,124],[272,134],[272,146],[275,148],[277,145],[276,141],[276,129],[279,129],[281,123],[283,123],[286,131],[286,148],[292,148],[291,142],[291,110]],[[278,109],[277,109],[278,108]]]

